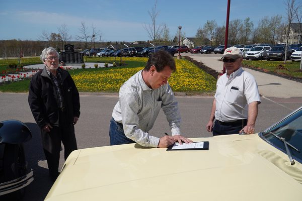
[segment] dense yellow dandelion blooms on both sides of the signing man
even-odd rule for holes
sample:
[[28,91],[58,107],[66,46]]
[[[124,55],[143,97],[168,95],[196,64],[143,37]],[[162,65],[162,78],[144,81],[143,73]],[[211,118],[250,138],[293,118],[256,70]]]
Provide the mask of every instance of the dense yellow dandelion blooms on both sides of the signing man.
[[[147,58],[123,58],[125,61],[143,61]],[[172,73],[169,84],[174,91],[179,92],[213,92],[216,89],[216,79],[199,69],[188,60],[175,60],[177,71]],[[80,91],[118,92],[120,86],[144,66],[136,68],[108,68],[100,71],[84,71],[72,75]]]

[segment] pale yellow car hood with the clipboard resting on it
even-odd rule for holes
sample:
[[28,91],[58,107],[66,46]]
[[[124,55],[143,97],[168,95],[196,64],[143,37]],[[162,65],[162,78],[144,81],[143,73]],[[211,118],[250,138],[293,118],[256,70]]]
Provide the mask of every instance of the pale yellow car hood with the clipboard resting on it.
[[209,150],[74,151],[45,200],[302,200],[301,164],[257,134],[192,140]]

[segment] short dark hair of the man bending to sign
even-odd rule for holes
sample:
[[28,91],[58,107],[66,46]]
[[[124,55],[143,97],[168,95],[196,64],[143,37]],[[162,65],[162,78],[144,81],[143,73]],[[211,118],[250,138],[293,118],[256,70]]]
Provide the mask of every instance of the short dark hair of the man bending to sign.
[[150,56],[146,66],[144,67],[144,70],[149,71],[151,66],[153,65],[155,66],[156,71],[158,72],[164,70],[165,66],[169,66],[173,72],[176,71],[174,58],[169,52],[164,50],[160,50],[154,55]]

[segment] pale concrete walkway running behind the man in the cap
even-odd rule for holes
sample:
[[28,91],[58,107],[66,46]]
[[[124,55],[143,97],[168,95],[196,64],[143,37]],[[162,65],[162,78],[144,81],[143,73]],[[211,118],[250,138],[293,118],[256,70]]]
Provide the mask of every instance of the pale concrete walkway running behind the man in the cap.
[[[221,72],[223,63],[218,61],[222,54],[211,56],[188,55],[192,59],[204,63],[206,66]],[[269,97],[302,97],[302,83],[288,80],[275,75],[255,71],[252,69],[245,70],[251,73],[258,84],[259,92],[262,96]]]

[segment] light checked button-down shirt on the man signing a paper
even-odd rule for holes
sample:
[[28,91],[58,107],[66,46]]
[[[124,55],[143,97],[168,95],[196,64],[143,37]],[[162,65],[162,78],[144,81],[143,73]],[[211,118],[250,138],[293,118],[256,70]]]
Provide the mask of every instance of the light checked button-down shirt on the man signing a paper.
[[160,138],[148,134],[163,109],[172,135],[181,135],[178,103],[170,85],[151,89],[142,79],[142,70],[134,74],[120,88],[113,119],[123,124],[125,135],[144,147],[157,147]]

